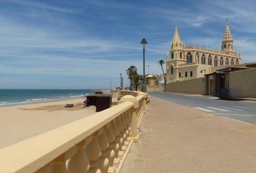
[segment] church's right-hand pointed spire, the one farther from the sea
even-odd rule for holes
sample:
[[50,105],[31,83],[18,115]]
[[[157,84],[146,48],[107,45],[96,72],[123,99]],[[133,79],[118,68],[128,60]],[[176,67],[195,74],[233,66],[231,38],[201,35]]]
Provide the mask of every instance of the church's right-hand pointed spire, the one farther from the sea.
[[229,55],[234,55],[234,41],[232,39],[232,35],[229,29],[229,22],[226,22],[225,34],[223,35],[221,49],[224,53]]

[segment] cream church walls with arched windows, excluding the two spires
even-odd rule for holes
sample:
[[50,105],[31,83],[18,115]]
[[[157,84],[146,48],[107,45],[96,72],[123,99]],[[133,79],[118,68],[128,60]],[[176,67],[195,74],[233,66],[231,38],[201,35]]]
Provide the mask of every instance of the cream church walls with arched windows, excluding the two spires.
[[[174,54],[173,57],[171,56],[172,53]],[[180,56],[179,53],[182,53],[182,56]],[[187,63],[188,53],[191,53],[192,55],[192,63]],[[202,64],[202,56],[205,56],[205,64]],[[200,78],[203,77],[205,74],[213,73],[216,68],[230,66],[231,60],[233,60],[234,65],[237,65],[240,63],[241,59],[239,55],[229,55],[218,52],[217,50],[203,50],[189,46],[184,48],[183,50],[170,50],[170,54],[168,54],[166,58],[167,83]],[[215,58],[217,59],[217,66],[214,63]],[[222,64],[221,59],[223,62]],[[173,66],[174,68],[173,74],[171,74],[171,66]],[[190,71],[192,71],[193,76],[191,77],[190,74],[188,74],[187,78],[184,77],[186,71],[187,73],[190,73]],[[179,72],[182,73],[181,76],[183,77],[179,77]]]

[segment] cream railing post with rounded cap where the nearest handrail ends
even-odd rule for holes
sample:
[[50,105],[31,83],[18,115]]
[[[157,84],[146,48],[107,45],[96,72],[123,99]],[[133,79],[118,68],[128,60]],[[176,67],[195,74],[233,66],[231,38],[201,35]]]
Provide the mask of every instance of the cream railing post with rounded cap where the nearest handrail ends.
[[138,128],[138,116],[137,116],[137,108],[139,107],[139,102],[137,101],[136,97],[133,97],[131,95],[126,95],[124,97],[121,97],[119,102],[133,102],[132,107],[132,133],[130,135],[130,138],[133,139],[134,142],[138,142],[139,140],[139,134],[137,132]]

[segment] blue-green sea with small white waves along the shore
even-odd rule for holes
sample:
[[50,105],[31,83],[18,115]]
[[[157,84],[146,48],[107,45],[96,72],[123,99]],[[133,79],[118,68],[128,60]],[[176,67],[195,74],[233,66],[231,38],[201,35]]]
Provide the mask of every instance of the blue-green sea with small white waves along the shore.
[[0,107],[85,97],[96,89],[0,89]]

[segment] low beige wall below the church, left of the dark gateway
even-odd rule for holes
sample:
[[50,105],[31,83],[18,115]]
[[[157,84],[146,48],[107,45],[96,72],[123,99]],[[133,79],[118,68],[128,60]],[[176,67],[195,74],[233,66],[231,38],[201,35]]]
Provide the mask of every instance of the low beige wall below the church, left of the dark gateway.
[[166,84],[166,92],[206,94],[205,77]]

